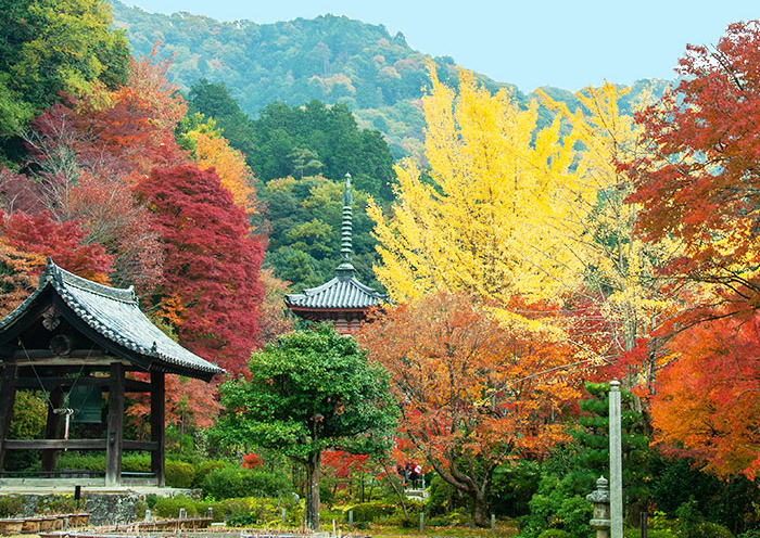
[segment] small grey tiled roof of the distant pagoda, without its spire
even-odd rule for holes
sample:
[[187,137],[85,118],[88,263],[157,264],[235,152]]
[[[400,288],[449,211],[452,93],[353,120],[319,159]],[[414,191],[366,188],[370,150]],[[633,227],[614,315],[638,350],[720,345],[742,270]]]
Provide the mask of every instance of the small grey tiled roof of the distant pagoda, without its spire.
[[352,274],[339,274],[317,287],[309,287],[300,294],[286,295],[289,308],[318,310],[366,310],[385,303],[387,296],[364,285]]

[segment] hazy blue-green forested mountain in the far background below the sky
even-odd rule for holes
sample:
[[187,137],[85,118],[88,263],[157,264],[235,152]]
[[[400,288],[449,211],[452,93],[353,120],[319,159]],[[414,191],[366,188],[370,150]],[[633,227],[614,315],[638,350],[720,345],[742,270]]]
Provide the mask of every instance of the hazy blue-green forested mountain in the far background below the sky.
[[[397,158],[421,155],[425,118],[422,87],[428,85],[427,55],[411,49],[398,33],[345,16],[324,15],[275,24],[251,21],[223,23],[191,13],[162,15],[113,1],[114,22],[126,30],[136,56],[150,54],[161,42],[160,57],[173,57],[169,69],[183,90],[205,78],[224,82],[246,114],[255,117],[273,101],[303,105],[316,99],[344,103],[362,127],[379,129]],[[439,76],[456,86],[454,59],[434,59]],[[467,67],[467,66],[464,66]],[[514,85],[476,75],[494,91],[509,88],[525,106],[535,94],[525,95]],[[651,86],[641,81],[621,103],[641,97]],[[663,82],[654,85],[659,94]],[[553,99],[574,107],[570,91],[544,89]],[[628,111],[625,111],[628,112]],[[540,126],[552,117],[540,111]]]

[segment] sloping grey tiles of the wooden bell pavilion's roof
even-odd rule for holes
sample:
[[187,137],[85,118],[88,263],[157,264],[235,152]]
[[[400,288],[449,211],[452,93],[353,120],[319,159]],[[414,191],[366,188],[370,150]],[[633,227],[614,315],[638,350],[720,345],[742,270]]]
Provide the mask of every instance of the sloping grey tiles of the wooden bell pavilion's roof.
[[[63,302],[91,329],[109,341],[167,371],[211,379],[224,370],[166,336],[140,310],[132,287],[119,290],[98,284],[61,269],[48,259],[38,289],[15,310],[0,320],[0,332],[23,317],[35,299],[51,286]],[[174,368],[173,368],[174,367]]]

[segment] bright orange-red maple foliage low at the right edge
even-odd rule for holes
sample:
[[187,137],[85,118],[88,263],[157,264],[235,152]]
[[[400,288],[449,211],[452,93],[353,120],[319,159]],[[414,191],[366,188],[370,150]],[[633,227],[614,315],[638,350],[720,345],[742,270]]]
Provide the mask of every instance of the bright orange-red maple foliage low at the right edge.
[[708,462],[720,475],[760,463],[760,313],[699,323],[675,335],[651,414],[667,451]]

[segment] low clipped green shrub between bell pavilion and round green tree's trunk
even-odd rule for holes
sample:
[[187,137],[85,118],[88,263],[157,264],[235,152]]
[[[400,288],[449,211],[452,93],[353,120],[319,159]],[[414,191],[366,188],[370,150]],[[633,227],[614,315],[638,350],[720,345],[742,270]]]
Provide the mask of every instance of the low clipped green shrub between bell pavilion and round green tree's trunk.
[[201,481],[203,494],[215,499],[276,497],[291,491],[284,473],[227,465],[215,469]]

